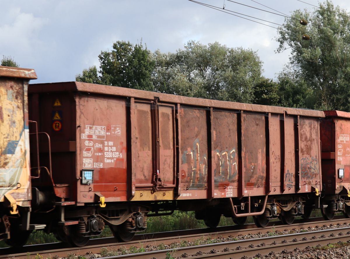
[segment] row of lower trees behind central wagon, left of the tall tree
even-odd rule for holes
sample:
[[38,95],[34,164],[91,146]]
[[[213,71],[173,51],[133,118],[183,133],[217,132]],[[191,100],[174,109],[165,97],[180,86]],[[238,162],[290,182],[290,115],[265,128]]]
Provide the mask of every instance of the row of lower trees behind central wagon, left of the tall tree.
[[84,69],[76,81],[222,101],[313,108],[307,84],[280,73],[262,76],[257,52],[189,41],[174,53],[151,52],[141,43],[117,41],[98,56],[100,67]]

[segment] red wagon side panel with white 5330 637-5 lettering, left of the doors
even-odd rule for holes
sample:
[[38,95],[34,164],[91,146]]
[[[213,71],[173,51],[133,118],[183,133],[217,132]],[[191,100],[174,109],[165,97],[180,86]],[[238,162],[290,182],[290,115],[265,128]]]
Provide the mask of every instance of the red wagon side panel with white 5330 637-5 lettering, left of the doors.
[[[78,184],[78,202],[126,200],[126,100],[80,95],[77,101],[77,178],[93,170],[93,183]],[[96,116],[91,116],[96,114]]]

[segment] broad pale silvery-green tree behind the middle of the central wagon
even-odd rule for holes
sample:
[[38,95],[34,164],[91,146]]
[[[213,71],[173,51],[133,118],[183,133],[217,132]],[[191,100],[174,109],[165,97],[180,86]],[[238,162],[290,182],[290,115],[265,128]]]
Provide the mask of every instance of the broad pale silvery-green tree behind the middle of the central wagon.
[[189,41],[176,53],[154,53],[156,91],[224,101],[251,103],[261,64],[252,50],[218,42]]

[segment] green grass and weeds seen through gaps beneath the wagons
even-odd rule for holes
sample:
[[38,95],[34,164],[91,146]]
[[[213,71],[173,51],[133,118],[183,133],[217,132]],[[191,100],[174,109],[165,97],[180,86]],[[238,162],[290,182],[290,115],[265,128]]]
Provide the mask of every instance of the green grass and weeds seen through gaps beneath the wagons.
[[[315,210],[311,214],[312,217],[320,217],[320,210]],[[246,223],[253,223],[253,218],[248,217]],[[221,217],[219,226],[234,225],[231,218]],[[169,216],[158,216],[149,217],[147,219],[147,229],[140,233],[155,233],[155,232],[167,232],[175,230],[186,230],[186,229],[196,229],[196,228],[206,228],[203,220],[196,220],[194,212],[181,212],[175,210],[172,215]],[[96,236],[100,237],[112,237],[112,232],[110,228],[106,227],[102,234]],[[27,245],[45,244],[58,242],[54,234],[46,234],[44,231],[34,231],[27,242]],[[4,241],[0,241],[0,248],[8,247]]]

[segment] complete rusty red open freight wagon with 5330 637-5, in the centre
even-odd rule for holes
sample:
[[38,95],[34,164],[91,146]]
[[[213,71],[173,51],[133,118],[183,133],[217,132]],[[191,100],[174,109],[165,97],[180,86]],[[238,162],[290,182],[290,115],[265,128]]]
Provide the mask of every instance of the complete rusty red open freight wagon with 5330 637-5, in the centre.
[[130,239],[174,209],[210,227],[290,223],[321,190],[322,111],[63,82],[31,84],[29,116],[36,212],[57,212],[76,245],[104,224]]

